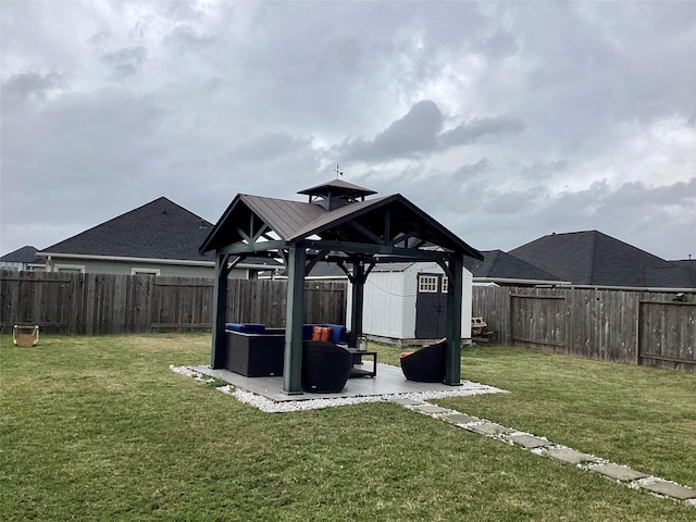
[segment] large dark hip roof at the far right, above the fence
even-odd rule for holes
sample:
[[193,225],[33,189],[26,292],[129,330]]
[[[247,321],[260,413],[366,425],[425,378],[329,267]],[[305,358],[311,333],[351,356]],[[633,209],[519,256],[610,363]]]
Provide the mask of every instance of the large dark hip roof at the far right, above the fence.
[[550,234],[508,253],[573,285],[692,288],[696,281],[689,269],[597,231]]

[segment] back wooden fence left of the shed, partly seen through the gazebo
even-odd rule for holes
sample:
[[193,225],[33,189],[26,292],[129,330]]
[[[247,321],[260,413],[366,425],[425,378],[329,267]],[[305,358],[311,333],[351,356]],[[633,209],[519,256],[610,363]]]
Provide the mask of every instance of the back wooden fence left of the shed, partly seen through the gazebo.
[[[308,282],[308,322],[344,323],[346,283]],[[285,325],[287,283],[229,279],[227,320]],[[2,271],[0,324],[60,334],[212,328],[213,281],[202,277]]]

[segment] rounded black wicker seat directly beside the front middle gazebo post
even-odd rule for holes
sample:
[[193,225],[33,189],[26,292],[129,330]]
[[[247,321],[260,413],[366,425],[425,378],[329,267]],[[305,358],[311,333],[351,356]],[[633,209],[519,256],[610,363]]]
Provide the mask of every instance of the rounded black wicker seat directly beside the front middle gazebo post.
[[337,394],[344,389],[352,371],[352,355],[333,343],[302,343],[302,389]]

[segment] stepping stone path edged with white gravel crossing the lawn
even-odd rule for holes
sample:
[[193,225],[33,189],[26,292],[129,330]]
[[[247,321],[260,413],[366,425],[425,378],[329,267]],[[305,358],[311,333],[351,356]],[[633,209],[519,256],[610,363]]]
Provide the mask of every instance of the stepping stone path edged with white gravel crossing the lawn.
[[460,413],[456,410],[440,408],[439,406],[410,398],[394,398],[389,400],[410,410],[418,411],[419,413],[455,424],[469,432],[519,446],[535,455],[575,464],[586,471],[599,473],[634,489],[645,489],[656,496],[681,500],[696,507],[696,489],[692,487],[682,486],[658,476],[648,475],[626,465],[609,462],[594,455],[583,453],[582,451],[556,444],[547,438],[537,437],[530,433],[520,432],[485,419]]

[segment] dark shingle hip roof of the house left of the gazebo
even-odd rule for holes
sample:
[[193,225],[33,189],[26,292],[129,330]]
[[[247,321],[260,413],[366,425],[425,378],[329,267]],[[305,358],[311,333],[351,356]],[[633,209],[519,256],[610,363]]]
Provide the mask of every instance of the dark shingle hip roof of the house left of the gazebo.
[[63,241],[46,253],[214,261],[198,245],[212,223],[161,197]]

